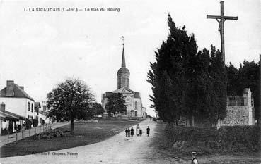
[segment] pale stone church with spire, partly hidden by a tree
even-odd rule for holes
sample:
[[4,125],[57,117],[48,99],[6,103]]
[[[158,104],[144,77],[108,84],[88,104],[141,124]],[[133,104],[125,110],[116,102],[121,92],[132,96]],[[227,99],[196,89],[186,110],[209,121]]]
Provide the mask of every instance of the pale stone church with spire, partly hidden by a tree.
[[130,117],[146,117],[146,109],[142,106],[141,96],[139,92],[134,92],[129,89],[129,70],[126,68],[125,64],[125,54],[124,54],[124,44],[122,49],[122,67],[117,72],[117,90],[112,92],[105,92],[101,96],[102,106],[105,109],[105,113],[103,115],[108,115],[108,111],[106,111],[106,103],[108,102],[108,97],[112,93],[122,93],[125,97],[125,104],[127,105],[127,112],[123,113],[122,116]]

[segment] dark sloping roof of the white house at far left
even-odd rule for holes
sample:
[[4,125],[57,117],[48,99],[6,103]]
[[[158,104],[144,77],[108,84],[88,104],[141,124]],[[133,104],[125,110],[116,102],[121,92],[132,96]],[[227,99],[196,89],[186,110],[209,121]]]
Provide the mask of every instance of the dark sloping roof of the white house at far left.
[[17,84],[14,83],[13,83],[13,95],[6,96],[6,87],[4,87],[4,89],[1,89],[0,91],[0,97],[27,98],[34,101],[32,97],[30,97],[23,89],[21,89],[21,87],[19,87]]

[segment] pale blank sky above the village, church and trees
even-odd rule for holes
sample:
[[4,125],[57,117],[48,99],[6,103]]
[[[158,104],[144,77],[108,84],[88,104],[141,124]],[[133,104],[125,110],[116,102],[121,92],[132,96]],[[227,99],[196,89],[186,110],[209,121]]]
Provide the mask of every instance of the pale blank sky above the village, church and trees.
[[[260,4],[260,0],[224,1],[224,15],[238,16],[225,22],[226,63],[238,67],[244,60],[259,61]],[[146,79],[149,63],[155,61],[154,51],[168,37],[168,13],[178,27],[185,25],[187,34],[195,34],[199,50],[210,49],[211,44],[220,49],[219,24],[206,18],[220,15],[216,0],[0,0],[0,89],[6,87],[6,80],[14,80],[41,101],[59,82],[79,77],[101,103],[101,94],[117,89],[124,36],[130,89],[141,93],[147,113],[154,115],[151,84]]]

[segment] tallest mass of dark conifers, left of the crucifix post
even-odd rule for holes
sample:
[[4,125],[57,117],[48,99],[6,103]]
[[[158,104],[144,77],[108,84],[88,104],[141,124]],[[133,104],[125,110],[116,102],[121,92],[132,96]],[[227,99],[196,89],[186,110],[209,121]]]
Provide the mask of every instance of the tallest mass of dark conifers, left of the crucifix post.
[[226,115],[226,69],[221,53],[211,46],[197,52],[193,34],[175,26],[168,15],[170,34],[155,52],[148,82],[152,107],[161,119],[177,123],[192,117],[214,123]]

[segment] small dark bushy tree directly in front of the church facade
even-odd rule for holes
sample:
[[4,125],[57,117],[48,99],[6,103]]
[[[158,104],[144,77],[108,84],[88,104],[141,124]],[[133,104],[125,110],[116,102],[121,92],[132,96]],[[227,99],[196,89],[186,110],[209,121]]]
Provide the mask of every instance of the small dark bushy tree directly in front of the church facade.
[[112,93],[108,97],[108,103],[106,103],[105,108],[108,110],[109,116],[113,113],[124,113],[127,111],[127,106],[125,104],[125,97],[121,93]]

